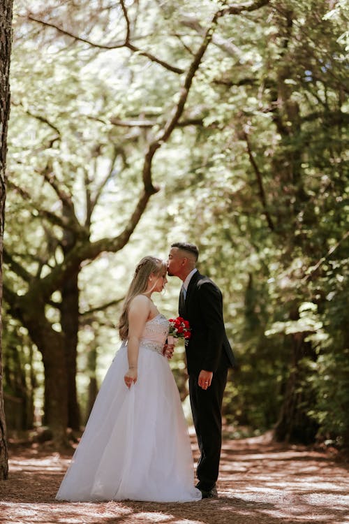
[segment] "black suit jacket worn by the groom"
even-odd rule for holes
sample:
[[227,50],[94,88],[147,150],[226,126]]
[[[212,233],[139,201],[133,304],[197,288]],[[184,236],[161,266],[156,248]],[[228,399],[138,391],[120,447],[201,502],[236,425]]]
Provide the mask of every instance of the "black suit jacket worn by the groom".
[[221,290],[208,277],[195,272],[189,282],[184,307],[179,315],[188,320],[191,338],[186,345],[188,373],[213,371],[218,367],[235,366],[223,321]]

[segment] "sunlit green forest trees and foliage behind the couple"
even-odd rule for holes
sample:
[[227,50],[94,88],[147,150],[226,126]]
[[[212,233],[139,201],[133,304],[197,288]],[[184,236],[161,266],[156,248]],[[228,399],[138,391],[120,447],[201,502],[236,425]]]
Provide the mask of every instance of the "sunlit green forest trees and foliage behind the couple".
[[[135,264],[200,249],[231,435],[349,444],[348,26],[335,0],[17,0],[8,427],[79,430]],[[158,307],[177,313],[179,281]],[[172,362],[186,398],[183,348]]]

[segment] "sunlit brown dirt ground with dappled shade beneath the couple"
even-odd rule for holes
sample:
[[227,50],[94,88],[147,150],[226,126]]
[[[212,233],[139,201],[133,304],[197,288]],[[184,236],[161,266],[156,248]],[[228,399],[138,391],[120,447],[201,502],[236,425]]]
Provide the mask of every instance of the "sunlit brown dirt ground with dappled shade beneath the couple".
[[225,439],[218,498],[186,504],[56,502],[69,458],[49,445],[10,446],[9,478],[0,482],[0,522],[349,524],[349,464],[334,450],[283,446],[269,435]]

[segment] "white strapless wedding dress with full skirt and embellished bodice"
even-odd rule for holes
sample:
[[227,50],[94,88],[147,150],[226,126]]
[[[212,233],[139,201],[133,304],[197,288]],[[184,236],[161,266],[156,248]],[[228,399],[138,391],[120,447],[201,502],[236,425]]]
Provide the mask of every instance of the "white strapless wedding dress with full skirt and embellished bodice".
[[147,321],[138,380],[128,389],[127,347],[121,345],[98,393],[57,500],[191,502],[193,456],[174,377],[163,344],[168,320]]

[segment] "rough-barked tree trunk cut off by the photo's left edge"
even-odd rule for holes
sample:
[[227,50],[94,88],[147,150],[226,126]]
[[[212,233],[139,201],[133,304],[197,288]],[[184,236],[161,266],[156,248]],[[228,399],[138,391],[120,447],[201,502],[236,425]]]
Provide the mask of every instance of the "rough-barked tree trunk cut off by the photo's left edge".
[[8,476],[8,451],[6,422],[3,410],[3,385],[1,363],[1,303],[2,303],[2,250],[6,199],[7,129],[10,116],[10,56],[12,43],[13,0],[0,0],[0,480]]

